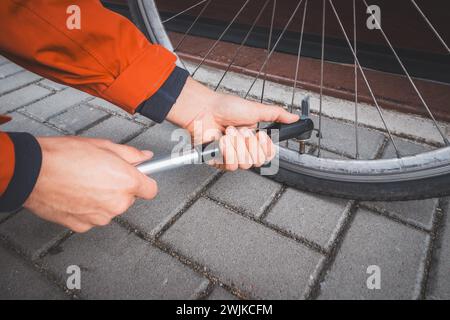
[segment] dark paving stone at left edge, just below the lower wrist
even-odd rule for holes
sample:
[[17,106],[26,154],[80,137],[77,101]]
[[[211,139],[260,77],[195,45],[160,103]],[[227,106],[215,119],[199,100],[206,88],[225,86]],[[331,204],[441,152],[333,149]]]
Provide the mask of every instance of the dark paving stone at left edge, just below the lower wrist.
[[40,219],[28,210],[0,224],[0,235],[33,259],[67,232],[66,228]]

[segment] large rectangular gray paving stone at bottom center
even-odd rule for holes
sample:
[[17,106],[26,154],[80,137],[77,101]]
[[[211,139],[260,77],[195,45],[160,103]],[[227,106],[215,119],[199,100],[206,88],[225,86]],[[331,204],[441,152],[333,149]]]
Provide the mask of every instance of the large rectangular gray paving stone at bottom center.
[[161,240],[254,298],[303,298],[321,255],[199,199]]

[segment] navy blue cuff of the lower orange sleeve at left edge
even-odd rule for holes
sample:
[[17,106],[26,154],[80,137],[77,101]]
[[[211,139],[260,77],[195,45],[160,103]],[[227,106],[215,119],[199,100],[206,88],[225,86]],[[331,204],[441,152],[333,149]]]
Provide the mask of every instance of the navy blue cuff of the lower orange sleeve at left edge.
[[8,132],[14,144],[14,174],[0,197],[0,212],[20,209],[33,191],[41,171],[42,150],[38,141],[29,133]]

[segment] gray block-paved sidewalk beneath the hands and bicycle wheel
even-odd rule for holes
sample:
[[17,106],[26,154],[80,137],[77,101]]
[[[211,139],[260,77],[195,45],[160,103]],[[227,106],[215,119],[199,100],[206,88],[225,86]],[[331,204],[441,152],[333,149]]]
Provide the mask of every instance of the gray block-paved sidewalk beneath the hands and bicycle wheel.
[[[3,131],[109,138],[169,152],[169,124],[154,125],[0,57]],[[350,156],[351,125],[326,119],[327,154]],[[388,157],[380,131],[362,129]],[[411,152],[426,144],[401,141]],[[286,188],[251,172],[208,166],[155,176],[160,194],[86,234],[21,210],[0,215],[0,298],[449,299],[446,199],[357,202]],[[81,268],[68,290],[67,268]],[[372,269],[381,288],[369,289]],[[369,270],[369,273],[368,273]],[[376,270],[375,270],[376,272]]]

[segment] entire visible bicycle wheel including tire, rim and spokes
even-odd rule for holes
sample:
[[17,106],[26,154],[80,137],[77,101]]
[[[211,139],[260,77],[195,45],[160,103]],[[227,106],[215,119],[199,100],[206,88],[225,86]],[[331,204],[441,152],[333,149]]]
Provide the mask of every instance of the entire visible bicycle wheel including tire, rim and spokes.
[[[359,0],[358,0],[359,1]],[[167,2],[167,1],[166,1]],[[186,40],[186,37],[191,32],[192,28],[198,23],[202,14],[207,10],[209,6],[212,5],[214,1],[212,0],[198,0],[195,1],[190,6],[186,5],[186,8],[176,14],[168,17],[166,19],[161,19],[160,14],[158,12],[157,3],[152,0],[131,0],[128,1],[129,7],[131,9],[133,21],[137,24],[139,28],[149,37],[149,39],[154,43],[159,43],[170,50],[177,50],[180,48],[183,41]],[[216,2],[220,2],[220,0],[216,0]],[[203,59],[201,59],[200,63],[195,66],[195,68],[191,68],[191,74],[195,76],[197,71],[202,67],[203,63],[206,61],[208,55],[214,50],[214,48],[223,40],[224,35],[229,31],[229,28],[233,25],[236,18],[242,13],[243,8],[250,2],[250,0],[243,1],[240,7],[236,7],[234,12],[235,15],[232,19],[229,20],[229,23],[226,24],[223,31],[220,33],[220,36],[216,36],[214,38],[213,46],[207,50]],[[361,0],[365,6],[367,3],[365,0]],[[440,36],[439,32],[434,28],[432,22],[428,20],[426,15],[423,13],[421,8],[415,3],[415,1],[411,1],[414,8],[420,13],[425,21],[425,27],[430,28],[437,40],[445,46],[448,53],[450,53],[450,49],[446,45],[445,41]],[[278,32],[278,37],[274,36],[273,32],[273,24],[274,18],[276,17],[276,0],[267,0],[259,9],[259,15],[256,15],[255,22],[250,26],[250,29],[247,33],[247,36],[242,40],[242,46],[246,45],[246,41],[248,40],[248,36],[254,31],[254,27],[256,25],[256,21],[258,21],[258,16],[260,17],[264,10],[270,10],[272,12],[272,22],[270,28],[270,40],[267,50],[267,56],[264,59],[262,67],[257,72],[254,77],[254,81],[252,82],[252,86],[256,81],[261,81],[260,78],[264,75],[264,68],[266,63],[269,61],[273,52],[275,52],[277,45],[279,44],[280,39],[283,37],[287,26],[291,23],[293,17],[295,15],[302,15],[303,9],[303,23],[301,26],[301,38],[298,46],[298,54],[297,58],[299,61],[301,56],[302,49],[302,37],[303,37],[303,28],[305,15],[307,11],[308,1],[307,0],[298,0],[298,3],[293,10],[289,21],[283,28],[280,28],[281,31]],[[278,173],[271,178],[284,183],[288,186],[292,186],[301,190],[306,190],[310,192],[331,195],[336,197],[357,199],[357,200],[411,200],[411,199],[423,199],[430,197],[440,197],[444,195],[450,194],[450,147],[447,138],[447,134],[443,132],[442,128],[439,126],[436,121],[433,113],[430,111],[425,99],[423,99],[421,92],[415,86],[413,77],[409,74],[405,65],[402,63],[400,57],[398,56],[396,49],[391,44],[390,40],[387,38],[386,34],[383,32],[383,29],[380,29],[381,35],[384,40],[388,43],[388,48],[392,50],[394,53],[394,57],[397,62],[401,66],[401,71],[406,75],[406,80],[409,81],[414,88],[414,91],[420,97],[423,105],[426,109],[427,115],[433,121],[435,125],[435,129],[437,134],[442,139],[441,143],[436,144],[436,148],[422,152],[415,155],[410,156],[402,156],[401,150],[399,150],[397,143],[399,141],[399,137],[391,132],[389,129],[386,119],[384,118],[383,109],[380,107],[379,103],[377,103],[377,99],[374,96],[373,92],[370,90],[371,86],[367,77],[365,76],[365,69],[361,66],[358,54],[357,54],[357,41],[356,41],[356,22],[354,23],[354,33],[353,33],[353,43],[351,41],[351,37],[347,34],[338,10],[335,7],[335,3],[333,0],[323,0],[323,15],[322,15],[322,48],[321,48],[321,87],[320,87],[320,110],[319,113],[315,116],[316,127],[322,130],[323,119],[322,119],[322,99],[323,99],[323,62],[324,62],[324,29],[325,29],[325,10],[331,12],[339,22],[340,31],[345,36],[345,41],[348,44],[352,54],[353,54],[353,64],[355,68],[355,119],[353,124],[355,126],[355,139],[356,139],[356,152],[355,156],[350,159],[335,159],[334,157],[324,157],[321,155],[321,150],[325,150],[323,146],[323,140],[321,136],[314,143],[308,143],[309,151],[307,153],[299,153],[298,151],[287,147],[280,146],[279,152],[279,166],[280,169]],[[367,6],[368,7],[368,6]],[[192,23],[188,26],[187,30],[185,30],[184,34],[181,34],[181,40],[175,46],[172,45],[172,42],[166,32],[165,23],[175,19],[176,17],[183,16],[188,13],[190,10],[196,8],[197,14],[194,17],[191,17]],[[354,21],[356,21],[356,13],[355,13],[355,0],[353,1],[353,15]],[[239,51],[239,49],[237,50]],[[225,74],[223,77],[229,72],[230,66],[234,63],[238,53],[234,56],[228,68],[226,68]],[[180,60],[180,65],[185,65]],[[293,97],[292,97],[292,105],[294,106],[294,96],[296,91],[296,82],[298,77],[298,62],[297,62],[297,70],[295,75],[295,82],[293,85]],[[363,82],[369,88],[371,97],[373,98],[373,105],[376,108],[378,115],[381,118],[381,122],[384,128],[381,129],[384,136],[387,139],[387,142],[391,144],[396,153],[396,158],[392,159],[366,159],[362,160],[358,155],[358,146],[364,143],[361,141],[361,137],[358,137],[358,130],[361,125],[358,123],[357,111],[358,111],[358,94],[357,94],[357,74],[358,72],[362,76]],[[223,77],[221,80],[223,80]],[[262,79],[262,92],[261,96],[264,95],[265,88],[265,77]],[[220,85],[220,83],[219,83]],[[219,87],[216,87],[216,89]],[[250,89],[251,90],[251,89]],[[247,91],[246,97],[249,96],[250,90]],[[294,106],[295,107],[295,106]],[[358,141],[359,138],[359,141]],[[294,142],[295,143],[295,142]],[[322,153],[323,153],[322,152]]]

